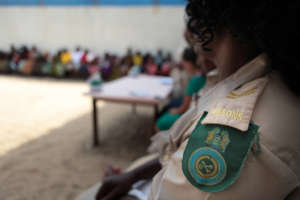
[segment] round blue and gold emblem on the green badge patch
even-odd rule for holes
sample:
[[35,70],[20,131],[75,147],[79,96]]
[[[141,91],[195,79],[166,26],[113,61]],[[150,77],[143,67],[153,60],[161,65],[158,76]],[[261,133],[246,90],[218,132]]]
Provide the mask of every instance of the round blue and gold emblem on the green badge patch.
[[227,166],[223,156],[213,148],[197,149],[189,159],[189,172],[202,185],[216,185],[226,176]]

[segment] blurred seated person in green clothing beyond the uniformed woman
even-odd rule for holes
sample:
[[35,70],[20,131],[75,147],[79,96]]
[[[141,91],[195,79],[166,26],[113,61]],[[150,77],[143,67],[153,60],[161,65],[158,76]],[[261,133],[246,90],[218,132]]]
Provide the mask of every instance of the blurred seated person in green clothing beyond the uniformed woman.
[[201,73],[201,68],[197,65],[197,55],[193,48],[184,50],[182,64],[185,70],[191,74],[183,102],[179,107],[168,110],[158,118],[156,122],[157,131],[168,130],[189,109],[193,95],[197,94],[206,83],[206,76]]

